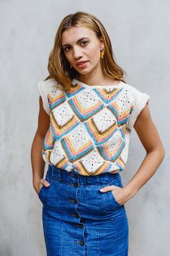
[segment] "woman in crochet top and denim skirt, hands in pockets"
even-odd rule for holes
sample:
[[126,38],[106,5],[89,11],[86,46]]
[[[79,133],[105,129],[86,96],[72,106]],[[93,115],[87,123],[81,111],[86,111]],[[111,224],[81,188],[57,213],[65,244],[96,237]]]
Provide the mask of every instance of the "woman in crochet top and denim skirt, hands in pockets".
[[[31,151],[47,255],[128,255],[125,203],[164,158],[150,97],[125,82],[106,30],[85,12],[61,22],[48,71]],[[123,186],[133,127],[146,157]]]

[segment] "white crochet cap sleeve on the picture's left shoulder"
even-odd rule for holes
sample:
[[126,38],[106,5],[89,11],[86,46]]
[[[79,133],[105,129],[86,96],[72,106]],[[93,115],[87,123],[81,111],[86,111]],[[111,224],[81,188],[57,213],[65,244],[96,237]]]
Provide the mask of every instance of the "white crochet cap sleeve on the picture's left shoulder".
[[49,102],[48,102],[47,82],[40,81],[40,82],[38,82],[37,86],[38,86],[38,90],[39,90],[40,96],[42,98],[43,108],[45,109],[46,113],[48,115],[50,115],[50,105],[49,105]]

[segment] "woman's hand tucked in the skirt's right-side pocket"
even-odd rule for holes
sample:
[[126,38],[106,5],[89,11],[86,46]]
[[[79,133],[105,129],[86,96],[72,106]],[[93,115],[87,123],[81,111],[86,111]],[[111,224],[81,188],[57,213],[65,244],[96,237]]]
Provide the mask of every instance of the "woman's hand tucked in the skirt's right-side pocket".
[[102,189],[99,189],[101,192],[107,192],[112,191],[112,194],[115,197],[115,200],[120,203],[120,205],[125,205],[125,202],[127,202],[130,199],[130,195],[128,194],[128,191],[123,187],[117,187],[115,185],[102,187]]

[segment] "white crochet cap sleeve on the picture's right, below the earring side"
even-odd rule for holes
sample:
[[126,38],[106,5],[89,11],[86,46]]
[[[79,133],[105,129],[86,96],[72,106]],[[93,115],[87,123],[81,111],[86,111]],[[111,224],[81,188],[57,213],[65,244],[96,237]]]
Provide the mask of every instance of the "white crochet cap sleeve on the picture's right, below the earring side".
[[130,107],[130,116],[128,119],[128,129],[132,130],[135,121],[140,114],[140,111],[146,106],[150,101],[150,96],[146,93],[140,92],[140,90],[131,87],[132,93],[132,103]]

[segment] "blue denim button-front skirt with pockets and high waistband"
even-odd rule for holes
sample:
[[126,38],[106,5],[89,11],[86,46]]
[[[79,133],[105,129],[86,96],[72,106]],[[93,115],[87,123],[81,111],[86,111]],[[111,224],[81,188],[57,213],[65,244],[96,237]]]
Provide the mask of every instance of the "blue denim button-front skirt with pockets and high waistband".
[[42,186],[42,225],[47,256],[128,256],[125,206],[111,191],[122,186],[120,174],[83,176],[48,165]]

